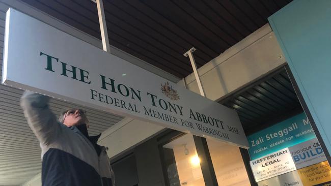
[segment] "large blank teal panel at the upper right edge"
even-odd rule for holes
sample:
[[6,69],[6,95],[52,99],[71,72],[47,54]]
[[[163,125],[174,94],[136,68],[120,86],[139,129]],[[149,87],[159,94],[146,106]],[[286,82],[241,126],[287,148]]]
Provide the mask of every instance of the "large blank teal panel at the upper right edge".
[[324,144],[331,152],[331,1],[292,1],[268,20]]

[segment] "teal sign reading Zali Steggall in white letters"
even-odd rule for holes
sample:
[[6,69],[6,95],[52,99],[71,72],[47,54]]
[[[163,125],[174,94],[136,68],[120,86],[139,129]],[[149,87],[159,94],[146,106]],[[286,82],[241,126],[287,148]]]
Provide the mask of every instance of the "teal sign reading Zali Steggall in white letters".
[[251,160],[313,138],[316,136],[305,113],[247,136]]

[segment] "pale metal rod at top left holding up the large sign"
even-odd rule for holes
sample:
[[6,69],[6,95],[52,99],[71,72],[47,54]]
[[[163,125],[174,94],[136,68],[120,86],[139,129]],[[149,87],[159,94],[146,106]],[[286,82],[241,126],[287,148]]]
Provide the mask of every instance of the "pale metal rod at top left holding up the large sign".
[[103,2],[102,2],[102,0],[96,0],[96,3],[97,3],[97,8],[98,8],[102,47],[103,47],[104,51],[111,53],[111,48],[109,47],[106,18],[104,16]]

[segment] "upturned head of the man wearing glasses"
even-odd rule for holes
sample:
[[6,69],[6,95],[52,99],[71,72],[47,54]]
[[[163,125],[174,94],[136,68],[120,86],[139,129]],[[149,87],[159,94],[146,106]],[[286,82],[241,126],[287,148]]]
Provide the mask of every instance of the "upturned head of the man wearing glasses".
[[71,126],[79,126],[81,124],[86,123],[86,111],[81,109],[73,109],[68,110],[64,116],[64,125],[71,127]]

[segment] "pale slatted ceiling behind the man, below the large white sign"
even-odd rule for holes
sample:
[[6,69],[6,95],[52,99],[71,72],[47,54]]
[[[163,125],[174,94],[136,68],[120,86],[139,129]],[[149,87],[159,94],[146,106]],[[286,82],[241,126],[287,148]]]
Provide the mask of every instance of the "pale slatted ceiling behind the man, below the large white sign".
[[[39,142],[19,106],[22,92],[0,85],[0,185],[20,185],[41,171]],[[57,116],[67,108],[87,110],[90,135],[97,135],[123,119],[122,116],[56,99],[51,99],[49,105]]]

